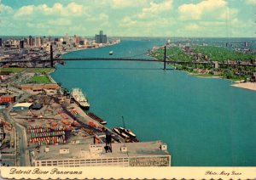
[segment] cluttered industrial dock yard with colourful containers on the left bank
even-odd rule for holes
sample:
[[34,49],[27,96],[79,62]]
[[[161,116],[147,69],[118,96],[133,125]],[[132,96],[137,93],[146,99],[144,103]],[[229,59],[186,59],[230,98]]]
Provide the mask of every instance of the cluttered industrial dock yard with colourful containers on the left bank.
[[[2,101],[7,101],[1,106],[3,166],[31,166],[32,156],[43,145],[106,143],[107,133],[111,134],[112,143],[138,142],[129,130],[117,127],[119,133],[105,127],[107,121],[82,110],[70,93],[63,93],[65,88],[55,82],[29,83],[26,79],[34,76],[32,71],[41,73],[38,69],[16,70],[1,87]],[[46,73],[49,71],[52,70]]]

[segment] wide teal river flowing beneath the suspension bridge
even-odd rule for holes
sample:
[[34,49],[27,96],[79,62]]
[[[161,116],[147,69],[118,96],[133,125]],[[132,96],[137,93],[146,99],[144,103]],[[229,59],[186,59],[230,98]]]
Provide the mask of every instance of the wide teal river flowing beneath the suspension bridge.
[[[63,58],[139,57],[163,41],[122,41],[67,53]],[[138,56],[136,56],[138,57]],[[232,82],[161,70],[152,62],[67,61],[52,74],[71,90],[80,87],[90,111],[125,126],[142,141],[162,140],[172,166],[256,166],[256,92]]]

